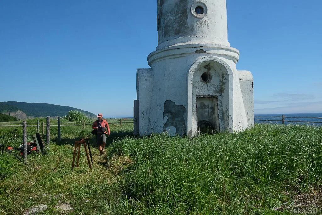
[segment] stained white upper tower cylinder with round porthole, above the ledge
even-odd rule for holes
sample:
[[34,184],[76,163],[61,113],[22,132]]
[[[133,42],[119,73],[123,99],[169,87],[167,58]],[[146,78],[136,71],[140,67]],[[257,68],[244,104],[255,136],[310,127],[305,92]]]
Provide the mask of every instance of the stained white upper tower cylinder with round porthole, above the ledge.
[[[226,0],[158,0],[158,47],[182,43],[229,46]],[[202,7],[204,13],[195,12]]]

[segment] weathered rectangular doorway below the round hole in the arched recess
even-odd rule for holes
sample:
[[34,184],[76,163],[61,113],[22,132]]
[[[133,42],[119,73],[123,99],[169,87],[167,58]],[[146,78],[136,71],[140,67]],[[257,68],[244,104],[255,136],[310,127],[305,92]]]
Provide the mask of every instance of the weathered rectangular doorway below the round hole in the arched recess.
[[197,97],[198,132],[213,134],[219,132],[219,114],[217,97]]

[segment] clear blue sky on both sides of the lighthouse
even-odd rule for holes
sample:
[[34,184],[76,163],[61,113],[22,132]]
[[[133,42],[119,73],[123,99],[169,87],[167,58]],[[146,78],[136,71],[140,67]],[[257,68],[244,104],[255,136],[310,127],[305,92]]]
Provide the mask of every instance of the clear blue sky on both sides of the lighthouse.
[[[322,1],[227,7],[237,69],[255,79],[255,113],[322,112]],[[132,116],[136,70],[156,46],[156,0],[0,1],[0,101]]]

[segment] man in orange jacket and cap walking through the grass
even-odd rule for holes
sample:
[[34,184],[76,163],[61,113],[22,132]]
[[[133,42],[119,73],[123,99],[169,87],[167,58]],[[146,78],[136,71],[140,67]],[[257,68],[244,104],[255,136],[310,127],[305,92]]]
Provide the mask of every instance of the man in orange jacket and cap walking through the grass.
[[93,123],[92,129],[97,129],[96,144],[99,146],[99,156],[105,154],[106,135],[109,135],[109,123],[103,119],[103,115],[99,113],[97,120]]

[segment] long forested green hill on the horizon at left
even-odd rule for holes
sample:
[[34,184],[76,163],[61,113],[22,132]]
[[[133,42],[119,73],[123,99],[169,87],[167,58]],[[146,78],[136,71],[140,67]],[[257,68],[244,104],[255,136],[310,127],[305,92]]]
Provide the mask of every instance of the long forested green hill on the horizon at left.
[[0,102],[0,113],[24,112],[27,117],[65,116],[69,111],[80,111],[90,118],[96,115],[81,109],[48,103]]

